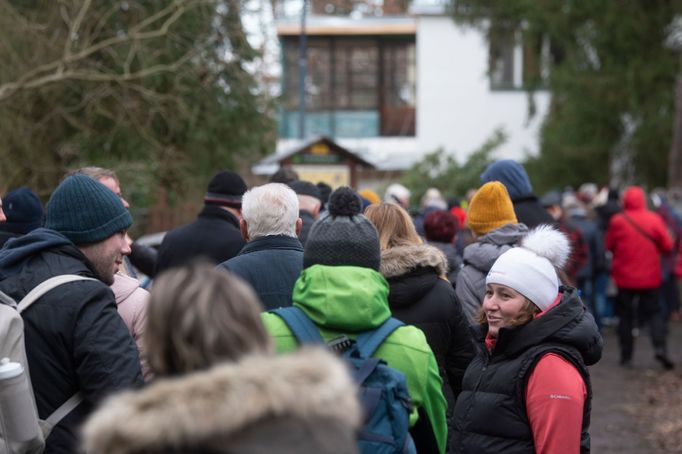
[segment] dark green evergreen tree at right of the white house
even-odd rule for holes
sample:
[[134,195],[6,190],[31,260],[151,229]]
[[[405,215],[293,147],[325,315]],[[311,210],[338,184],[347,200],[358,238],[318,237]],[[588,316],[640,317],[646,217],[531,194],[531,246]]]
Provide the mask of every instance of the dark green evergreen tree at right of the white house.
[[671,150],[676,52],[666,45],[682,11],[672,0],[495,1],[453,4],[455,20],[523,30],[530,48],[551,43],[552,95],[540,153],[526,169],[539,192],[600,184],[664,185]]

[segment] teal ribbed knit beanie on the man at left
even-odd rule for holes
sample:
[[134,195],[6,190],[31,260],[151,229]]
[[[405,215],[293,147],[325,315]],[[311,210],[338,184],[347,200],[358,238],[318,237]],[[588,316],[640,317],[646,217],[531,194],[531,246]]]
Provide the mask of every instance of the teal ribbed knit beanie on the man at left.
[[74,244],[98,243],[126,230],[133,218],[112,190],[76,174],[64,179],[47,202],[45,227]]

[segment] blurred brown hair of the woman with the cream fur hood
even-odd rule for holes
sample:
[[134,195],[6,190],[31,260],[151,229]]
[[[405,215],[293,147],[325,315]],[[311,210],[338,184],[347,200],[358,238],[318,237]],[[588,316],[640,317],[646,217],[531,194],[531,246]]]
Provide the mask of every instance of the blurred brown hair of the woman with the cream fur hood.
[[261,310],[253,290],[226,270],[206,262],[168,270],[155,279],[147,307],[150,367],[175,375],[269,353]]

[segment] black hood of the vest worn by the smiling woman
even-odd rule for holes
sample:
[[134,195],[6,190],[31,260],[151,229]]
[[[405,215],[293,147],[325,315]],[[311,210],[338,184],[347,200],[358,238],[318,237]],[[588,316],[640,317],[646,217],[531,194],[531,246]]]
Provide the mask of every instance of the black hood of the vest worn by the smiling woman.
[[561,301],[540,317],[520,327],[502,328],[493,355],[516,356],[541,343],[569,345],[586,365],[601,359],[603,339],[576,289],[563,287]]

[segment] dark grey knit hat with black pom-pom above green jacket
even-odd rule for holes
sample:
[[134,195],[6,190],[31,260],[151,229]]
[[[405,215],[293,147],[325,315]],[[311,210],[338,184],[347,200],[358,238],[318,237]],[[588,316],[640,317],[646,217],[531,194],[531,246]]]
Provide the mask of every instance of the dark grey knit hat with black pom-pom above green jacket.
[[379,234],[361,210],[360,196],[351,188],[334,191],[328,211],[310,228],[303,267],[345,265],[379,270]]

